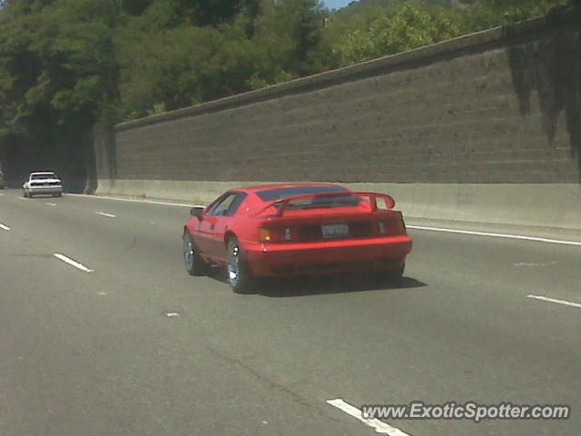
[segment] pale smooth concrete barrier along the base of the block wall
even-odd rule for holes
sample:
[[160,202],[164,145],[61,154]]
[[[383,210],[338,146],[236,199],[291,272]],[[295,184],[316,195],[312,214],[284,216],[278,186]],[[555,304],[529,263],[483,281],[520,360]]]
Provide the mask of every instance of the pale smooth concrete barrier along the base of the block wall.
[[[269,183],[269,182],[265,182]],[[207,204],[249,182],[108,180],[100,194]],[[342,183],[357,191],[389,193],[408,218],[581,231],[578,184]]]

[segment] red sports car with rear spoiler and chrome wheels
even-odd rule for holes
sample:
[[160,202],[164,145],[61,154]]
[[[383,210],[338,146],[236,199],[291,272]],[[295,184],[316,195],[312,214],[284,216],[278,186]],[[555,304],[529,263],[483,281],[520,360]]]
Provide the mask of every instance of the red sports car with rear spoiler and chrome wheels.
[[235,188],[193,207],[183,228],[191,275],[225,266],[234,292],[260,277],[373,271],[399,279],[411,238],[393,199],[330,183]]

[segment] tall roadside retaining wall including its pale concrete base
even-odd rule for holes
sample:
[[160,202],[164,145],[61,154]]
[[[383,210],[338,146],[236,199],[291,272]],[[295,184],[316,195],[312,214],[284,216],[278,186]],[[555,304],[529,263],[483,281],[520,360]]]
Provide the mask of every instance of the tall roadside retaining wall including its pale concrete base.
[[97,193],[376,183],[411,216],[579,228],[579,22],[576,8],[119,124],[95,142]]

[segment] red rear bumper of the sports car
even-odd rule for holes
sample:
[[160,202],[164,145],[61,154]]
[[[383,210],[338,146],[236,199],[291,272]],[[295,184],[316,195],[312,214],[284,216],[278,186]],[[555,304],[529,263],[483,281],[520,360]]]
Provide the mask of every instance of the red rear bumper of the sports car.
[[256,276],[398,269],[411,251],[408,235],[322,243],[248,243],[242,248]]

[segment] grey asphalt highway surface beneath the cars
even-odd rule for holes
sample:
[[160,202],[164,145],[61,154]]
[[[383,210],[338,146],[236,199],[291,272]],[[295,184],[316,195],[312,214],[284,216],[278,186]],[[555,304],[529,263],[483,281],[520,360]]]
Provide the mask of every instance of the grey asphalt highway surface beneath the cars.
[[572,408],[392,436],[581,433],[581,307],[528,297],[581,303],[581,246],[410,230],[398,286],[236,295],[185,272],[186,207],[0,193],[2,436],[377,434],[335,399]]

